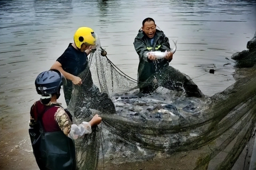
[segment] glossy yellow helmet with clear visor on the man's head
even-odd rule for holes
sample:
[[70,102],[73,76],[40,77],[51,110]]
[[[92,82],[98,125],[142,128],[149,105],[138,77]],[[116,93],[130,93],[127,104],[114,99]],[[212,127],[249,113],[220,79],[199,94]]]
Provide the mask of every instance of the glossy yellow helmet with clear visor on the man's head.
[[95,45],[96,44],[96,34],[94,33],[93,29],[88,27],[80,27],[75,32],[74,35],[74,42],[77,48],[81,48],[83,43],[87,45]]

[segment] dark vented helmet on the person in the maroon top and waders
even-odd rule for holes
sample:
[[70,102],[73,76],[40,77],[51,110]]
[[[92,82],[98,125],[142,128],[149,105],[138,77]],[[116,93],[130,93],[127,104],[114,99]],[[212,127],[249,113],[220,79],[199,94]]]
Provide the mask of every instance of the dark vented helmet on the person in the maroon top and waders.
[[66,85],[67,80],[61,72],[50,69],[40,73],[35,79],[35,88],[38,94],[46,95],[60,93],[61,85]]

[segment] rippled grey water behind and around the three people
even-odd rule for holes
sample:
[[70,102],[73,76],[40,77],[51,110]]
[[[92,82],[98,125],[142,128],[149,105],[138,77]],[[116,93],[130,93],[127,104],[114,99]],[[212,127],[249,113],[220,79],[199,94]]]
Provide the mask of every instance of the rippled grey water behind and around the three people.
[[[255,1],[1,0],[0,169],[37,169],[27,133],[30,107],[39,99],[35,77],[50,69],[78,27],[93,28],[108,58],[137,79],[133,41],[142,20],[155,19],[167,37],[177,40],[170,65],[213,95],[234,83],[230,57],[246,49],[255,16]],[[217,70],[210,74],[210,69]],[[65,106],[63,93],[59,101]]]

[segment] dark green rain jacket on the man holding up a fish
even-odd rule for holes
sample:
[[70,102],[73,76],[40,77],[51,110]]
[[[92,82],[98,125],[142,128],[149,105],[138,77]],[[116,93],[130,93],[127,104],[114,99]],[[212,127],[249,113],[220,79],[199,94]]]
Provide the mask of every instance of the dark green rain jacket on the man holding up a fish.
[[154,41],[151,45],[150,38],[140,29],[133,45],[139,55],[138,82],[145,82],[151,75],[159,72],[161,68],[169,66],[171,59],[158,59],[156,62],[153,62],[153,60],[149,60],[146,56],[146,53],[149,51],[171,51],[169,39],[162,30],[156,29]]

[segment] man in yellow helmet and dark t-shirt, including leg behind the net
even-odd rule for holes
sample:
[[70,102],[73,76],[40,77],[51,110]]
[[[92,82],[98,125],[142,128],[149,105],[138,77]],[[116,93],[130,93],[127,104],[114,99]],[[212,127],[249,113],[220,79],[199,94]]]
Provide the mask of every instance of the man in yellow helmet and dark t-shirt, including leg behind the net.
[[[67,85],[63,85],[64,97],[67,106],[71,100],[73,85],[81,85],[82,80],[78,75],[89,69],[88,55],[91,53],[92,47],[96,45],[97,35],[91,28],[81,27],[74,34],[74,43],[70,43],[64,53],[56,60],[51,69],[59,70],[67,79]],[[106,51],[105,51],[106,53]],[[103,52],[101,55],[105,55]],[[97,86],[93,84],[90,70],[83,80],[83,85],[89,87],[94,103],[90,108],[101,112],[115,113],[115,106],[106,93],[100,93]],[[98,104],[96,104],[98,103]],[[104,103],[104,104],[103,104]]]

